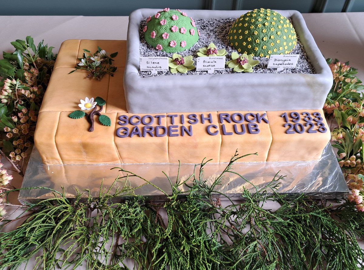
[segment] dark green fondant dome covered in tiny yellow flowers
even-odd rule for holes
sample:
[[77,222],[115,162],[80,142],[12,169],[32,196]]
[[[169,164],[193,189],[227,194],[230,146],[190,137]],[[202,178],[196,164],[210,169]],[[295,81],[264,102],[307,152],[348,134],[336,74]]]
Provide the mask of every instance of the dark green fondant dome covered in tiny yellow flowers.
[[292,23],[270,9],[254,9],[238,18],[227,39],[240,53],[267,57],[289,54],[297,43]]

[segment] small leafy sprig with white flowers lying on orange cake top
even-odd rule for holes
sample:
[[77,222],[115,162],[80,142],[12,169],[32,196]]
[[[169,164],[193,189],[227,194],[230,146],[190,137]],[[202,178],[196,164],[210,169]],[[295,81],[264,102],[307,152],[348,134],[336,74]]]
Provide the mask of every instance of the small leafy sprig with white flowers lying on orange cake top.
[[[76,70],[86,70],[88,71],[87,78],[101,80],[105,74],[110,74],[113,77],[117,67],[112,66],[112,61],[114,61],[112,58],[115,58],[118,52],[108,56],[105,50],[102,50],[99,46],[97,48],[94,54],[83,49],[83,58],[78,58],[80,62],[75,66],[75,70],[72,70],[69,74],[74,73]],[[91,55],[86,55],[86,52]]]

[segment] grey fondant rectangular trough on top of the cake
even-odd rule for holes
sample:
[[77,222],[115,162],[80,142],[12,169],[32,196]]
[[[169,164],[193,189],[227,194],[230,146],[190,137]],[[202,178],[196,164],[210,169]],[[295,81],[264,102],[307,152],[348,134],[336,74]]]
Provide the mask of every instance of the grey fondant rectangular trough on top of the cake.
[[[129,113],[202,111],[278,111],[321,109],[332,73],[298,11],[278,10],[291,18],[316,74],[233,73],[164,75],[142,78],[139,29],[156,9],[137,9],[129,17],[124,91]],[[185,10],[194,19],[237,18],[247,11]]]

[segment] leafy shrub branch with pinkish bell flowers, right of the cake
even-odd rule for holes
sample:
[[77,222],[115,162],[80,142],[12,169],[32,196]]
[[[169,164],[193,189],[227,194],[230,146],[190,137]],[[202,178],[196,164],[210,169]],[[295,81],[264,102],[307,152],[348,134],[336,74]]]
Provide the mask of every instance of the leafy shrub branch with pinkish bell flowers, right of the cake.
[[327,117],[335,118],[337,127],[331,131],[333,147],[351,189],[348,199],[364,212],[364,86],[355,76],[356,69],[349,62],[327,59],[334,84],[324,105]]

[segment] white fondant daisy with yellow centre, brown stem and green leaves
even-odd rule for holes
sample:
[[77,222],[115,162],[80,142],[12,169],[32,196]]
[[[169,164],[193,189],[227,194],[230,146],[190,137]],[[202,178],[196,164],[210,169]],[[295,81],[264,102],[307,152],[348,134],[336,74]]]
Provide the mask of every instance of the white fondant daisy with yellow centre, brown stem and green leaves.
[[[106,101],[101,97],[94,98],[86,97],[84,100],[80,99],[80,104],[78,105],[81,108],[80,110],[73,111],[68,115],[68,117],[72,119],[79,119],[82,117],[86,117],[87,121],[90,123],[90,128],[88,131],[94,131],[94,116],[95,114],[99,117],[99,122],[104,126],[111,126],[111,120],[108,116],[102,115],[100,111],[102,111],[103,106],[106,104]],[[97,109],[97,106],[100,106],[100,109]],[[85,113],[85,110],[92,110],[90,114]]]

